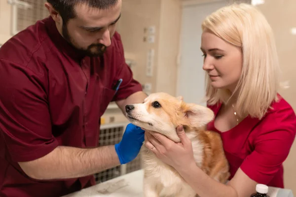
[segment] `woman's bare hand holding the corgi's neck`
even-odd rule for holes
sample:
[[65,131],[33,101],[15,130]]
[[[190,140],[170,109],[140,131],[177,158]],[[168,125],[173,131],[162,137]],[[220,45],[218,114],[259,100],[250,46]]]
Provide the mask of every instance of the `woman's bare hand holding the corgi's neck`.
[[166,136],[154,132],[145,132],[145,146],[152,151],[158,159],[165,164],[171,165],[176,170],[195,164],[192,144],[185,134],[183,126],[177,128],[177,134],[181,142],[175,143]]

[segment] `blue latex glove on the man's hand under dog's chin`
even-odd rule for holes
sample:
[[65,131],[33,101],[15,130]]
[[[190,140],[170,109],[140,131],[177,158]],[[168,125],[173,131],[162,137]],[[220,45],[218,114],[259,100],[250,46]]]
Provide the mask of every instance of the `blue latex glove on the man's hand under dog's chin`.
[[115,151],[118,155],[120,164],[126,164],[134,160],[144,142],[144,133],[140,127],[128,124],[121,141],[115,144]]

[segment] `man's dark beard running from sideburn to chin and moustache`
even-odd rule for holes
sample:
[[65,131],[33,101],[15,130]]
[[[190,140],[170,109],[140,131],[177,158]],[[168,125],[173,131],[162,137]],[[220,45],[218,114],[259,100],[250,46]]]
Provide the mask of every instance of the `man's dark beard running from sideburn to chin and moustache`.
[[[89,57],[100,57],[103,56],[103,54],[105,53],[107,47],[104,44],[91,44],[87,47],[87,49],[82,49],[82,48],[77,48],[76,46],[74,46],[73,44],[73,39],[71,38],[71,36],[69,35],[68,29],[66,27],[66,24],[63,24],[63,28],[62,28],[62,34],[63,37],[69,42],[69,44],[71,46],[73,46],[79,53],[81,53],[82,55],[85,56],[89,56]],[[96,48],[96,53],[93,53],[91,51],[92,48]]]

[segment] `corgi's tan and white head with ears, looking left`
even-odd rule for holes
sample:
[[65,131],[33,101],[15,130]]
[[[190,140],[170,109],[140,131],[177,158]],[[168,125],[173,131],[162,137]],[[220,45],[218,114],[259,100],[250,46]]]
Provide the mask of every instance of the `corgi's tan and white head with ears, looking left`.
[[185,103],[182,97],[166,93],[151,94],[144,103],[126,105],[125,109],[127,118],[134,125],[164,134],[175,142],[180,141],[176,133],[178,126],[198,130],[214,118],[211,109]]

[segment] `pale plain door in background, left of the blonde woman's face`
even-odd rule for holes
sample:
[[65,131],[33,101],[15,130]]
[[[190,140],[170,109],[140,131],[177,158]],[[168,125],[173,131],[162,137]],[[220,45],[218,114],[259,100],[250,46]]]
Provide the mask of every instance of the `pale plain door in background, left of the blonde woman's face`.
[[181,28],[181,63],[178,71],[177,95],[185,102],[205,105],[205,72],[202,69],[203,57],[200,51],[201,23],[216,9],[224,6],[226,1],[212,3],[185,4]]

